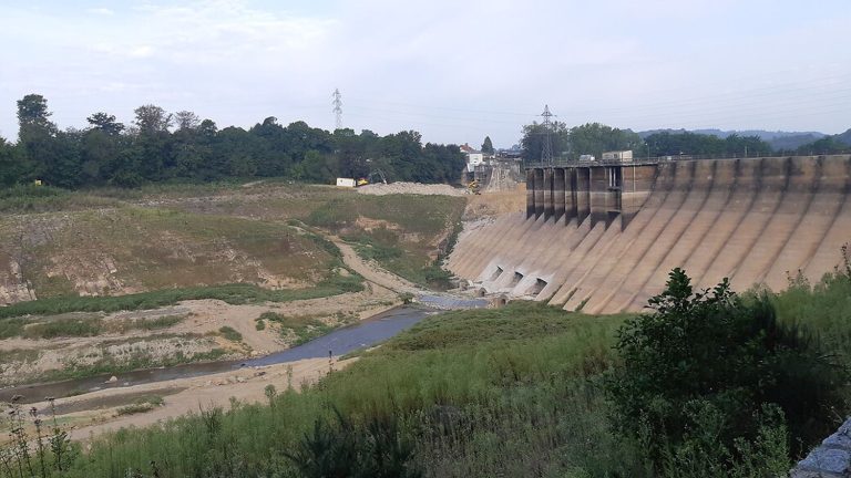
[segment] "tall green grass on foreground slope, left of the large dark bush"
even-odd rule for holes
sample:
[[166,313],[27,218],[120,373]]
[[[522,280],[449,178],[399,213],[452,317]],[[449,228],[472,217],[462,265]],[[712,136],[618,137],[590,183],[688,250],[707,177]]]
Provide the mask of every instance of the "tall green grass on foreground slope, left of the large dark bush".
[[632,445],[608,434],[589,382],[613,362],[622,321],[536,303],[450,312],[271,406],[234,404],[95,439],[69,476],[150,474],[151,460],[163,476],[288,476],[281,453],[329,406],[358,420],[400,417],[427,476],[643,476]]

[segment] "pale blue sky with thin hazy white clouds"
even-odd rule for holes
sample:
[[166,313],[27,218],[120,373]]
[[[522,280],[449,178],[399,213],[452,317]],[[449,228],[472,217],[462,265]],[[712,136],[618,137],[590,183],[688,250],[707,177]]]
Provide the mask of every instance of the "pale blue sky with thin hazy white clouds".
[[155,104],[219,127],[268,116],[424,142],[568,126],[851,127],[851,1],[0,0],[0,136],[16,102],[61,127]]

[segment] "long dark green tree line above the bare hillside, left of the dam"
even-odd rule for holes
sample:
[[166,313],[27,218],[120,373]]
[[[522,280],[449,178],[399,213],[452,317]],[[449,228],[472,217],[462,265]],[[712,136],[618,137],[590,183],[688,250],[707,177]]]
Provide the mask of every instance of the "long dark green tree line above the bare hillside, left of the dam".
[[134,187],[271,176],[330,184],[378,169],[392,180],[457,183],[464,166],[458,146],[423,145],[414,131],[328,132],[300,121],[284,126],[273,116],[247,131],[219,129],[188,111],[143,105],[134,114],[130,125],[98,112],[85,128],[60,129],[42,95],[24,96],[18,102],[18,142],[0,137],[0,185],[38,179],[65,188]]

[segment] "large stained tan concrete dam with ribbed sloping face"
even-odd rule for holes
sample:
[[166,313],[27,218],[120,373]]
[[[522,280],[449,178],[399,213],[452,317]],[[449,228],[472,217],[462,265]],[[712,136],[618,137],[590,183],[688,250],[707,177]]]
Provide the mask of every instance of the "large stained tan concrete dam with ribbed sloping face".
[[486,292],[639,311],[680,267],[698,288],[816,282],[851,241],[851,156],[526,169],[526,210],[462,235],[447,266]]

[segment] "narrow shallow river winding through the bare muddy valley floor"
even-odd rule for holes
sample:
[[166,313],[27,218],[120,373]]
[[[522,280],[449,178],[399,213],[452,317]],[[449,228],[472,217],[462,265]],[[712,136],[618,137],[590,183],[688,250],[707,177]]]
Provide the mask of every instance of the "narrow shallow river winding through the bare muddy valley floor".
[[399,306],[375,315],[357,325],[338,329],[327,335],[293,349],[264,357],[175,365],[164,368],[141,370],[120,374],[110,382],[111,375],[98,375],[47,384],[21,385],[0,389],[0,402],[8,402],[14,395],[22,395],[20,403],[33,403],[45,397],[64,397],[103,388],[116,388],[175,378],[191,378],[201,375],[228,372],[244,366],[271,365],[304,358],[344,355],[358,349],[375,345],[390,339],[417,322],[440,311],[427,308]]

